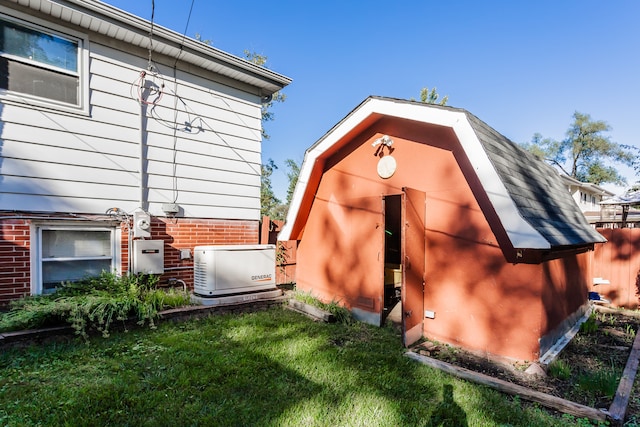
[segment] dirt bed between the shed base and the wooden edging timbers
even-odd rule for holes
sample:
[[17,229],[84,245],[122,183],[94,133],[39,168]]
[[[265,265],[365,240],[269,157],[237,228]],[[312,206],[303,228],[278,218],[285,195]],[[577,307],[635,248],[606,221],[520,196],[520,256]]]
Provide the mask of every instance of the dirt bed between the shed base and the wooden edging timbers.
[[[608,409],[627,364],[640,318],[595,311],[592,319],[546,369],[531,375],[531,363],[489,358],[437,342],[424,341],[413,351],[593,408]],[[640,421],[640,387],[635,381],[627,419]]]

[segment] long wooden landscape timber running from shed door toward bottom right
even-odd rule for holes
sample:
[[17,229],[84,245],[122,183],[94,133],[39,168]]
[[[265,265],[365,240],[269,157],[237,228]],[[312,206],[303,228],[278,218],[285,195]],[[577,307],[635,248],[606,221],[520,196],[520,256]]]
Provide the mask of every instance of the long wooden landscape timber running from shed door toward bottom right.
[[439,369],[458,378],[485,385],[503,393],[518,395],[523,399],[540,403],[546,407],[557,409],[558,411],[565,412],[567,414],[575,415],[578,417],[587,417],[597,421],[605,421],[608,416],[608,412],[604,409],[592,408],[590,406],[581,405],[570,400],[551,396],[550,394],[531,390],[526,387],[510,383],[508,381],[493,378],[488,375],[471,371],[469,369],[460,368],[447,362],[432,359],[431,357],[422,356],[412,351],[408,351],[405,354],[407,357],[416,360],[424,365]]

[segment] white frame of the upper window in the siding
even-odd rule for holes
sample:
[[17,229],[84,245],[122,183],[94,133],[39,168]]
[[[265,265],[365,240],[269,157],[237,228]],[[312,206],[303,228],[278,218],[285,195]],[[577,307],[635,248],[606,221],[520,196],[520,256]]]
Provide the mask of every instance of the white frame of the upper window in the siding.
[[27,104],[30,106],[51,108],[55,110],[62,110],[73,113],[89,114],[89,39],[84,33],[71,30],[60,25],[56,25],[52,22],[44,21],[39,18],[24,15],[15,10],[7,9],[0,6],[0,19],[22,26],[26,29],[37,31],[43,34],[49,34],[56,37],[60,37],[74,43],[77,43],[77,71],[72,72],[65,70],[54,65],[39,62],[37,60],[30,60],[28,58],[22,58],[17,55],[7,54],[0,52],[0,56],[12,61],[20,62],[28,66],[34,66],[42,68],[44,70],[62,73],[69,76],[75,76],[78,78],[78,100],[76,104],[67,103],[63,101],[57,101],[46,97],[31,95],[28,93],[12,91],[9,89],[0,88],[0,100],[10,103]]

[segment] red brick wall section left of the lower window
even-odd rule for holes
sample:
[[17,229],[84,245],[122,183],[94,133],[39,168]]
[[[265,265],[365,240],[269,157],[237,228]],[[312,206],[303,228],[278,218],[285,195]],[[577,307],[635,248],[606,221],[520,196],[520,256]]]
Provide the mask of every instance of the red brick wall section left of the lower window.
[[30,292],[29,224],[0,217],[0,306]]

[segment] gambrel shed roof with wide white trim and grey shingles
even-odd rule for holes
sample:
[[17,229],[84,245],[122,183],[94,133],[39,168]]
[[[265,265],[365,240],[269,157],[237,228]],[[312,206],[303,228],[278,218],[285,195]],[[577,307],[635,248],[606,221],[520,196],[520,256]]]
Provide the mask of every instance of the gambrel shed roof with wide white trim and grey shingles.
[[281,240],[300,238],[324,160],[348,141],[345,136],[382,116],[450,127],[515,249],[557,249],[606,241],[589,225],[551,166],[473,114],[383,97],[367,98],[306,151]]

